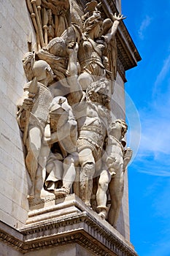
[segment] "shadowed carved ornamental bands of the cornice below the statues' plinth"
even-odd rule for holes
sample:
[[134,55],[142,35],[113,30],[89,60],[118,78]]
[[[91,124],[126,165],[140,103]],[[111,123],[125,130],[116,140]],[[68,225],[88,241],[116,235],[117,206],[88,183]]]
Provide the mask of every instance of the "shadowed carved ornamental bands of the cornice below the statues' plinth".
[[[66,225],[75,225],[78,223],[88,225],[90,233],[93,233],[93,238],[90,234],[86,233],[83,228],[78,228],[77,230],[72,230],[68,233],[58,235],[54,232],[54,230],[58,230],[60,227],[64,227]],[[48,235],[42,236],[42,232],[44,234],[48,233]],[[125,245],[116,236],[112,236],[111,233],[96,225],[96,223],[85,214],[80,214],[80,216],[77,216],[76,218],[67,218],[65,220],[61,220],[61,222],[51,222],[46,225],[38,225],[33,229],[30,228],[20,231],[20,233],[23,234],[23,241],[15,238],[15,234],[11,235],[4,232],[4,230],[0,230],[0,238],[5,243],[15,247],[15,249],[18,249],[23,253],[34,251],[36,249],[47,249],[51,246],[77,243],[90,250],[90,252],[95,253],[95,255],[136,256],[133,249]],[[27,238],[30,237],[31,234],[36,234],[36,238],[34,236],[32,240]],[[98,239],[96,239],[96,237],[98,237]],[[103,237],[103,239],[101,239],[101,237]],[[100,240],[103,240],[103,242]],[[106,242],[107,246],[105,245]]]

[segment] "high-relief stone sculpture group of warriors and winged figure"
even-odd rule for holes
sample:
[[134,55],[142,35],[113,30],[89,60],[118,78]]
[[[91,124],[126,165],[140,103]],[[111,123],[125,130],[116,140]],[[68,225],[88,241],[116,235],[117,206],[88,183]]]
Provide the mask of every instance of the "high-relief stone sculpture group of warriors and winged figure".
[[29,43],[23,58],[28,83],[17,119],[31,178],[28,200],[74,192],[115,226],[132,156],[123,140],[128,127],[112,120],[110,108],[123,15],[103,19],[97,1],[85,12],[76,1],[26,1],[36,46]]

